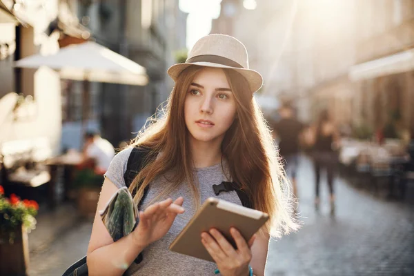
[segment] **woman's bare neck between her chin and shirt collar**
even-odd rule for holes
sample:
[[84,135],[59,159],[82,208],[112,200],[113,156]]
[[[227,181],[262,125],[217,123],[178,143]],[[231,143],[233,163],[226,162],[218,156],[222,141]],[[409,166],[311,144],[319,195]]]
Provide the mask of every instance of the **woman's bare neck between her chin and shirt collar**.
[[195,168],[206,168],[221,161],[221,141],[197,141],[190,139]]

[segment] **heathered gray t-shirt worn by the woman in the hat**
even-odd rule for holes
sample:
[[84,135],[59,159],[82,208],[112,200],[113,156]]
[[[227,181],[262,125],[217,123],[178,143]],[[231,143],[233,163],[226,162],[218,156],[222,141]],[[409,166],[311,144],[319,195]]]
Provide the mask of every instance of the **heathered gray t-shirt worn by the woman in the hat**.
[[[124,172],[132,148],[126,148],[119,152],[108,168],[105,177],[108,177],[118,188],[125,186]],[[242,205],[235,191],[221,192],[218,196],[213,191],[213,184],[220,184],[221,181],[229,181],[228,173],[224,172],[221,164],[194,170],[199,181],[201,203],[208,197],[218,197],[235,204]],[[227,176],[226,176],[227,175]],[[144,206],[151,199],[161,193],[168,181],[168,177],[157,177],[150,183],[148,195],[144,199]],[[168,250],[171,242],[177,237],[186,226],[191,217],[195,214],[192,190],[188,184],[182,183],[177,190],[172,191],[168,197],[177,199],[184,197],[184,214],[178,215],[168,233],[159,241],[150,244],[142,252],[144,260],[140,264],[132,263],[126,275],[214,275],[217,265],[187,255],[171,252]],[[201,239],[201,238],[200,238]]]

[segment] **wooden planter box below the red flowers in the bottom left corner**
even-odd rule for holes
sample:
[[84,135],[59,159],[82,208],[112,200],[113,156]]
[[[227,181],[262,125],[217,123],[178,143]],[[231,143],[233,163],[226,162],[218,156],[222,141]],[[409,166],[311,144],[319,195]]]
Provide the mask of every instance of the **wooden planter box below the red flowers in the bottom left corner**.
[[0,275],[28,275],[29,244],[26,228],[20,226],[10,233],[0,233]]

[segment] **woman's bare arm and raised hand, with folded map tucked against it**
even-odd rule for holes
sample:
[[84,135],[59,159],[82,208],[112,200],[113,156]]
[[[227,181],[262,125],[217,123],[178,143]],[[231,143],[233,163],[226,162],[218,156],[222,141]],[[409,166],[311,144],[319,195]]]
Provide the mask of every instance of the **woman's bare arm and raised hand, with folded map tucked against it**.
[[172,199],[166,199],[152,204],[144,212],[139,212],[139,224],[132,233],[113,242],[99,210],[103,210],[117,190],[108,178],[103,181],[88,246],[90,275],[122,275],[146,246],[164,237],[177,214],[184,213],[184,208],[181,207],[182,197],[174,203]]

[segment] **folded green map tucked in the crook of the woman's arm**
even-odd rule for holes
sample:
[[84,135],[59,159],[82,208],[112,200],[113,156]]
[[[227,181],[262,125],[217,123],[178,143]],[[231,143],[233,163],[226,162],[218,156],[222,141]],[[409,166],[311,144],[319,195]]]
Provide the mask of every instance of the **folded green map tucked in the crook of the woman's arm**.
[[139,222],[137,206],[126,187],[117,190],[99,213],[114,242],[131,233]]

